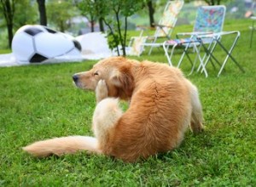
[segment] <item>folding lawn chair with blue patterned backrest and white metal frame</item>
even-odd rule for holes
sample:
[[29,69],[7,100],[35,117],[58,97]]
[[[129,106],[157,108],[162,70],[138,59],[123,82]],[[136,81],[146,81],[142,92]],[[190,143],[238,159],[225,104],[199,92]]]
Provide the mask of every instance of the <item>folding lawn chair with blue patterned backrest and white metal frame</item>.
[[[212,53],[212,51],[216,47],[216,40],[214,40],[211,37],[205,37],[199,40],[198,36],[222,31],[224,26],[225,10],[226,8],[223,5],[199,7],[197,9],[195,26],[193,31],[177,33],[177,37],[179,36],[189,36],[189,37],[182,38],[182,39],[177,38],[177,39],[169,40],[163,43],[163,48],[164,48],[165,55],[169,65],[172,65],[172,55],[173,55],[174,49],[177,46],[182,46],[184,47],[183,54],[177,63],[177,67],[181,65],[183,61],[183,57],[184,55],[186,55],[190,63],[192,64],[192,69],[190,72],[192,73],[195,69],[195,62],[197,61],[197,58],[198,58],[200,61],[200,67],[202,68],[202,71],[204,71],[207,77],[208,74],[205,68],[204,61],[209,60],[210,58],[209,58],[209,55],[207,54],[205,54],[201,58],[201,55],[200,55],[201,43],[203,42],[204,44],[208,44],[207,50]],[[168,54],[168,50],[170,47],[172,47],[172,51],[170,54]],[[189,57],[189,53],[188,53],[189,48],[194,48],[196,52],[196,58],[194,62],[192,62],[192,60]]]

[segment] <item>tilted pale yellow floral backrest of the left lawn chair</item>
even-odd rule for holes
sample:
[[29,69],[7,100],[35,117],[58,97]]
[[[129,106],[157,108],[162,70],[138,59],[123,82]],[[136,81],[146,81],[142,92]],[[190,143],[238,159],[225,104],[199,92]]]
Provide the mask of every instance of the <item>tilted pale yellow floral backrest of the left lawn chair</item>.
[[159,21],[159,25],[163,27],[157,27],[154,37],[169,37],[172,34],[172,30],[177,22],[177,15],[183,8],[183,0],[174,0],[166,3],[163,15]]

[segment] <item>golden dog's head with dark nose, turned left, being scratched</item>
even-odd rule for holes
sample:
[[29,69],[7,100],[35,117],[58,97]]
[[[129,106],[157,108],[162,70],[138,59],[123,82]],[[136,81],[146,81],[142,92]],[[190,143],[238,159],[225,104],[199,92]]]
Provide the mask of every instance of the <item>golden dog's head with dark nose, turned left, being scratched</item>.
[[73,75],[76,86],[85,90],[95,91],[100,80],[108,86],[108,96],[129,99],[134,82],[131,73],[131,62],[123,57],[102,59],[90,71]]

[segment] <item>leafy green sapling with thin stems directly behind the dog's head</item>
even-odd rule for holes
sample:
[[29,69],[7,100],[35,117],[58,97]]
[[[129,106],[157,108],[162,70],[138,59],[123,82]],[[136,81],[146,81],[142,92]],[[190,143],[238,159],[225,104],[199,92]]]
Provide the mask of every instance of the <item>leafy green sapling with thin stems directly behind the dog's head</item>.
[[125,55],[127,18],[140,10],[146,2],[146,0],[111,0],[106,3],[104,0],[83,0],[79,2],[79,9],[82,14],[90,16],[91,22],[102,18],[108,26],[109,47],[116,48],[117,53],[120,54],[118,46],[121,45]]

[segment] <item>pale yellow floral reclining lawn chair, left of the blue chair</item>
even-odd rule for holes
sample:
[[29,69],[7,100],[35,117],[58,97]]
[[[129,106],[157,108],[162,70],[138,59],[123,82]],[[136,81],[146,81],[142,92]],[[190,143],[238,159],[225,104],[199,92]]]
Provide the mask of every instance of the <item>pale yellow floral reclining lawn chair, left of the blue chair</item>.
[[[154,24],[156,30],[154,32],[154,36],[146,36],[143,37],[143,30],[141,31],[140,37],[141,39],[137,39],[137,37],[131,37],[131,42],[128,48],[139,48],[139,52],[133,54],[132,50],[130,55],[142,54],[144,47],[150,47],[148,54],[151,54],[152,49],[154,47],[162,47],[162,42],[157,43],[158,38],[170,39],[172,35],[172,30],[177,22],[177,15],[180,10],[183,8],[183,0],[172,0],[166,3],[166,7],[164,9],[163,15],[159,21],[159,24]],[[143,41],[143,42],[142,42]],[[135,47],[137,46],[137,47]],[[138,47],[141,46],[141,47]]]

